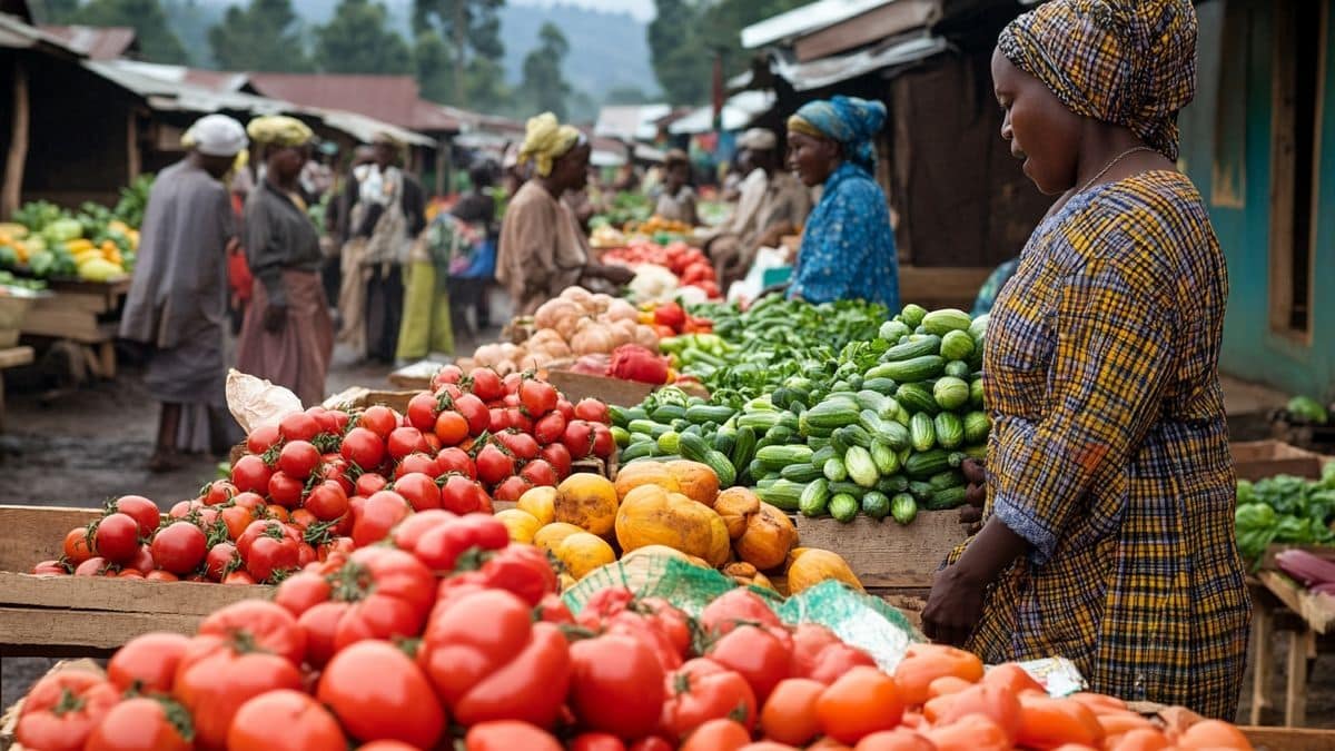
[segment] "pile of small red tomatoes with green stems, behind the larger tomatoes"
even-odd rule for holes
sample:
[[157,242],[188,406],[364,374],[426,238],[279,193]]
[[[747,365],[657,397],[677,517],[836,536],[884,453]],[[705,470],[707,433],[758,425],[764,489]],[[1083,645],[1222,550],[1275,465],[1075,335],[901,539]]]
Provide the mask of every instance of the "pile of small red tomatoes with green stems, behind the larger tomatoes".
[[606,404],[570,404],[531,374],[455,366],[405,414],[315,406],[252,430],[246,446],[228,480],[166,518],[140,496],[112,501],[33,573],[276,583],[383,540],[410,513],[490,513],[493,500],[557,485],[574,462],[615,450]]

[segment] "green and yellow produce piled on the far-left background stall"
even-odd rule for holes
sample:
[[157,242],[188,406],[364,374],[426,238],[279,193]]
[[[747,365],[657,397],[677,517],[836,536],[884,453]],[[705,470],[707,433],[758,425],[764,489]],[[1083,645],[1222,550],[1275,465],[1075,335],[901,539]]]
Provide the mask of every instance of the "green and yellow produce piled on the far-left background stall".
[[138,247],[139,231],[96,203],[72,214],[39,200],[16,211],[13,223],[0,224],[0,267],[40,279],[123,277],[134,270]]

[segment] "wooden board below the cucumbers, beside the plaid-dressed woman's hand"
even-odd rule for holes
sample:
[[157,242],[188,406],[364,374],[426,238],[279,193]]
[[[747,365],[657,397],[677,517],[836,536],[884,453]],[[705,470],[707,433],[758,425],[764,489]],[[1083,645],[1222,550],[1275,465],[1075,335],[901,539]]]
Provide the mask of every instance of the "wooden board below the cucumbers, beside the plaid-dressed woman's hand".
[[802,547],[844,556],[862,587],[930,587],[947,553],[965,539],[959,518],[953,510],[920,512],[902,527],[861,514],[849,524],[800,516],[797,536]]

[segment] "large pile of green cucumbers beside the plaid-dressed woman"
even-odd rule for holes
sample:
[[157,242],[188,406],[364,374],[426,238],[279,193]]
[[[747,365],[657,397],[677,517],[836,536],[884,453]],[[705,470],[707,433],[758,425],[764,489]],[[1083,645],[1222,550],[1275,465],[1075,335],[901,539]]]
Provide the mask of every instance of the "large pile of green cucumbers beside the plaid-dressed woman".
[[[659,389],[611,409],[621,461],[681,456],[709,465],[725,488],[754,485],[780,509],[840,521],[861,510],[909,524],[918,508],[955,508],[965,492],[959,466],[985,453],[991,429],[979,371],[985,330],[987,317],[909,305],[870,341],[794,365],[740,406],[746,389],[769,388],[769,373],[710,400]],[[722,371],[738,384],[737,366],[702,381],[717,386]]]

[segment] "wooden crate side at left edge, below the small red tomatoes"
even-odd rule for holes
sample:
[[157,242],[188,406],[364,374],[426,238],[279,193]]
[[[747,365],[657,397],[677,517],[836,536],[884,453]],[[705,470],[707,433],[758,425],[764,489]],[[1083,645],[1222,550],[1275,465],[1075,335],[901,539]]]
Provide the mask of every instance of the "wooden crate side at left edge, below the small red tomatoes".
[[194,633],[203,617],[272,587],[32,576],[56,557],[67,532],[100,512],[0,505],[0,652],[99,656],[150,631]]

